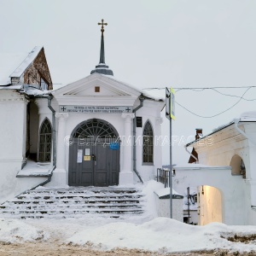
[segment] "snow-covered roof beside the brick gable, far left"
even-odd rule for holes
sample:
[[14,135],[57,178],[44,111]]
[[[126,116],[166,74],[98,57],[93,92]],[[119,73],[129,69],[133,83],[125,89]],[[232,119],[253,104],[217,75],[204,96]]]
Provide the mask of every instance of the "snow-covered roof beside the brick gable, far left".
[[0,53],[0,85],[11,84],[12,77],[20,78],[42,48],[36,46],[29,53]]

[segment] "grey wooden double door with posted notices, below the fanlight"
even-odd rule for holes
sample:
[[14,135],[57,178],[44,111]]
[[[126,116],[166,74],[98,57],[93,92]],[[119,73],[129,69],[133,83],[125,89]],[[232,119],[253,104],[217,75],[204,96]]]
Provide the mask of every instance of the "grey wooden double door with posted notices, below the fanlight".
[[[114,147],[111,147],[113,146]],[[110,186],[119,181],[119,144],[79,143],[69,148],[68,183],[70,186]]]

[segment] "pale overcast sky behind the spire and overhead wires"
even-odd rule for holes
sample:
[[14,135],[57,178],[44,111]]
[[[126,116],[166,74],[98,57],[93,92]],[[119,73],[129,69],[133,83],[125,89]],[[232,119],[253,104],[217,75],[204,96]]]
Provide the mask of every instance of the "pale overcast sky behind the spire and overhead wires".
[[[99,61],[100,27],[105,29],[106,63],[114,76],[138,89],[256,85],[256,1],[13,1],[0,0],[0,51],[30,51],[44,45],[55,84],[82,79]],[[1,71],[0,71],[1,72]],[[219,90],[241,96],[246,89]],[[165,96],[165,90],[160,90]],[[247,91],[256,99],[256,88]],[[203,116],[220,113],[239,98],[212,90],[179,90],[177,102]],[[176,106],[173,134],[207,134],[256,101],[241,100],[212,119],[202,119]],[[163,115],[164,116],[164,115]],[[165,119],[163,134],[168,134]],[[163,163],[168,163],[164,150]],[[175,146],[173,162],[189,154]]]

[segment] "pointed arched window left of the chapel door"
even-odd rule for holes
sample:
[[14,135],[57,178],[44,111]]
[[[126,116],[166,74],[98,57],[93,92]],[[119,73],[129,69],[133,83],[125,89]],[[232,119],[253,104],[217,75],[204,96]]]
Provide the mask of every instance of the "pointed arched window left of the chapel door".
[[49,119],[44,119],[39,134],[39,162],[50,162],[51,155],[51,125]]

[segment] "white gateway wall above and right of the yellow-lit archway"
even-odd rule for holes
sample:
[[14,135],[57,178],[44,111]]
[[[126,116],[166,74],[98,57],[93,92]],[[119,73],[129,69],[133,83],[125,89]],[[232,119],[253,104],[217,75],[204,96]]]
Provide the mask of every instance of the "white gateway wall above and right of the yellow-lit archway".
[[[232,176],[230,166],[175,166],[173,189],[182,194],[187,187],[207,185],[219,190],[224,224],[250,224],[247,215],[247,186],[241,176]],[[236,214],[234,214],[236,212]]]

